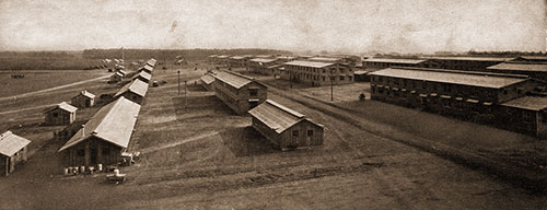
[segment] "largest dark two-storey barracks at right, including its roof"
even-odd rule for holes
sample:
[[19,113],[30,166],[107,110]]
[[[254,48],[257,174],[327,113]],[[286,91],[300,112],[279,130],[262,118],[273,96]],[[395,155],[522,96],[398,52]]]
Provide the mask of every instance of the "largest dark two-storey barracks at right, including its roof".
[[[528,109],[515,109],[538,85],[526,75],[469,72],[421,68],[388,68],[371,73],[371,96],[373,100],[428,109],[434,113],[472,118],[489,115],[502,119],[508,110],[515,116],[528,115]],[[537,102],[537,101],[534,101]],[[529,103],[526,101],[526,103]],[[547,103],[547,102],[546,102]],[[511,107],[508,107],[511,105]],[[538,113],[537,120],[545,117]],[[504,114],[505,113],[505,114]],[[536,118],[534,118],[536,119]],[[519,121],[519,120],[512,120]],[[522,121],[522,120],[521,120]],[[502,127],[503,121],[497,121]],[[544,126],[545,127],[545,126]],[[515,131],[539,135],[537,124],[532,128],[521,126]],[[514,130],[514,129],[512,129]]]

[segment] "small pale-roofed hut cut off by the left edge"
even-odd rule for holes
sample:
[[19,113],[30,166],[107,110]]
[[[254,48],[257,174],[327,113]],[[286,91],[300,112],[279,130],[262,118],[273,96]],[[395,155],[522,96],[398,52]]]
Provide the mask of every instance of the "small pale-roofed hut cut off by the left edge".
[[26,162],[27,145],[30,140],[5,131],[0,135],[0,168],[4,168],[4,175],[15,171],[16,165]]

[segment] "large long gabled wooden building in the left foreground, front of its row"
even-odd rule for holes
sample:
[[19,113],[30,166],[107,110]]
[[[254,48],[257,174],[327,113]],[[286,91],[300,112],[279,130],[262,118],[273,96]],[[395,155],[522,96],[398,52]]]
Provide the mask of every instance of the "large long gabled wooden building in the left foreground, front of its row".
[[139,104],[123,96],[102,107],[58,150],[62,165],[116,165],[129,145],[139,110]]

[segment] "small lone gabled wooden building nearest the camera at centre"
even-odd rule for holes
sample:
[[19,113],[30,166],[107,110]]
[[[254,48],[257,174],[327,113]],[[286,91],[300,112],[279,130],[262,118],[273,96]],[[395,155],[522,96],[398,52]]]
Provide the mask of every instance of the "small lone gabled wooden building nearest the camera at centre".
[[323,144],[322,125],[271,100],[248,114],[253,117],[253,128],[281,150]]

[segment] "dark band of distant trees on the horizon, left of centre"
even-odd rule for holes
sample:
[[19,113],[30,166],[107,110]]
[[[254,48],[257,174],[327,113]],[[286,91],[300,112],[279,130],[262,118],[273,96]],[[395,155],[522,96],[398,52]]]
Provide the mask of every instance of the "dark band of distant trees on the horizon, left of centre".
[[175,60],[177,56],[184,57],[186,60],[201,60],[210,55],[292,55],[286,50],[275,49],[85,49],[83,58],[86,59],[112,59],[124,58],[132,59],[149,59],[158,60]]

